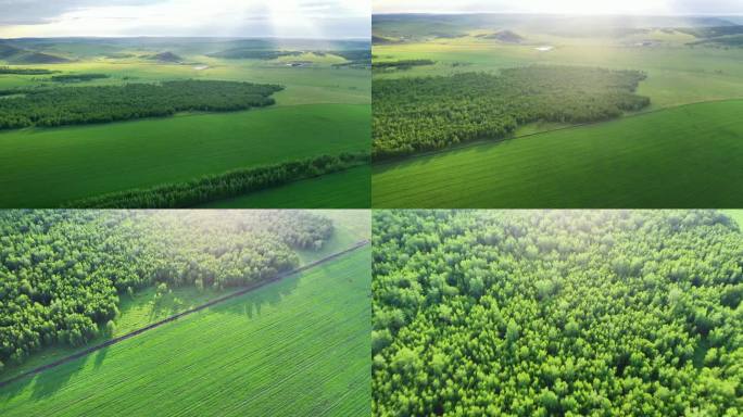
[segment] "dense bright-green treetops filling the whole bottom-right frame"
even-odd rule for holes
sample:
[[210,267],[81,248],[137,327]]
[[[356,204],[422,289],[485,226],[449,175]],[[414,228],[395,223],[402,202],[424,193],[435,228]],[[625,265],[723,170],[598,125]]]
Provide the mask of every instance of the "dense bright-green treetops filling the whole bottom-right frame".
[[374,216],[377,416],[740,416],[743,232],[714,211]]

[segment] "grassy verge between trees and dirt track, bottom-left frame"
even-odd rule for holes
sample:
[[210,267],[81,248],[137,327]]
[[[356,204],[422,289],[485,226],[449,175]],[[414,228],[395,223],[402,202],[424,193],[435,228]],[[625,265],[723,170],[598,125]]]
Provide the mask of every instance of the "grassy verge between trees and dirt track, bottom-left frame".
[[[328,240],[322,250],[310,251],[301,250],[298,254],[302,264],[320,260],[333,253],[343,251],[356,242],[370,239],[370,212],[368,210],[317,210],[314,213],[322,214],[333,220],[333,236]],[[92,340],[88,345],[102,343],[111,337],[119,337],[140,329],[152,323],[184,312],[210,300],[224,296],[231,290],[215,291],[206,289],[199,291],[194,287],[182,287],[172,289],[160,301],[155,302],[154,288],[143,289],[129,296],[121,295],[119,316],[115,319],[116,330],[111,336],[100,336]],[[17,375],[59,361],[65,356],[80,352],[86,349],[70,348],[66,345],[51,345],[39,351],[26,359],[22,365],[5,364],[0,372],[0,380],[7,380]]]

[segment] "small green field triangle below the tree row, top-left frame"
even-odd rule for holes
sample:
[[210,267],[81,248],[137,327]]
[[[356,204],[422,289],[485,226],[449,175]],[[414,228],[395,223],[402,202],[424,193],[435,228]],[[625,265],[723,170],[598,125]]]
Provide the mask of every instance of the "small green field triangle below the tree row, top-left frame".
[[360,166],[235,199],[216,201],[199,208],[297,208],[298,202],[302,203],[303,208],[368,207],[372,204],[370,172],[369,166]]

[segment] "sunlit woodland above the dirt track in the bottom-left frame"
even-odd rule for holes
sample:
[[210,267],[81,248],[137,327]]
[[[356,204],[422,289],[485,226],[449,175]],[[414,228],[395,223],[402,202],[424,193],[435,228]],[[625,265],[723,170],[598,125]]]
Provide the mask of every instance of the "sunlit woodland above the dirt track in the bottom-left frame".
[[331,233],[328,218],[290,210],[0,212],[0,368],[85,344],[138,289],[270,279]]

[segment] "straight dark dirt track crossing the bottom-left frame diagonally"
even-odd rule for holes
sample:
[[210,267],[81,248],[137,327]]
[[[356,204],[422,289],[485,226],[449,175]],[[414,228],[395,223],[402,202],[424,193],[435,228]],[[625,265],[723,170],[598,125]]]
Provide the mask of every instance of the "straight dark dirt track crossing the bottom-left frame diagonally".
[[298,268],[294,268],[294,269],[292,269],[292,270],[290,270],[290,271],[287,271],[287,273],[284,273],[284,274],[279,274],[279,275],[277,275],[277,276],[274,277],[274,278],[269,278],[269,279],[265,279],[265,280],[260,281],[260,282],[251,283],[251,285],[249,285],[249,286],[247,286],[247,287],[243,287],[242,289],[240,289],[240,290],[238,290],[238,291],[236,291],[236,292],[232,292],[232,293],[229,293],[229,294],[227,294],[227,295],[223,295],[223,296],[221,296],[221,298],[214,299],[214,300],[209,301],[209,302],[206,302],[206,303],[204,303],[204,304],[198,305],[198,306],[196,306],[196,307],[193,307],[193,308],[189,308],[189,309],[187,309],[187,311],[184,311],[184,312],[174,314],[174,315],[172,315],[172,316],[168,316],[168,317],[166,317],[166,318],[163,318],[162,320],[152,323],[152,324],[150,324],[150,325],[148,325],[148,326],[144,326],[144,327],[139,328],[139,329],[137,329],[137,330],[130,331],[130,332],[128,332],[128,333],[126,333],[126,334],[123,334],[123,336],[119,336],[119,337],[117,337],[117,338],[113,338],[113,339],[106,340],[105,342],[96,344],[96,345],[90,346],[90,348],[88,348],[88,349],[86,349],[86,350],[84,350],[84,351],[80,351],[80,352],[74,353],[74,354],[72,354],[72,355],[65,356],[65,357],[63,357],[63,358],[61,358],[61,359],[58,359],[58,361],[54,361],[54,362],[52,362],[52,363],[50,363],[50,364],[41,365],[41,366],[39,366],[39,367],[37,367],[37,368],[34,368],[34,369],[30,369],[30,370],[25,371],[25,372],[23,372],[23,374],[20,374],[20,375],[17,375],[17,376],[13,377],[13,378],[7,379],[7,380],[4,380],[4,381],[0,381],[0,388],[3,388],[3,387],[5,387],[5,386],[9,386],[9,384],[11,384],[11,383],[13,383],[13,382],[20,381],[20,380],[22,380],[22,379],[24,379],[24,378],[26,378],[26,377],[30,377],[30,376],[36,375],[36,374],[40,374],[40,372],[42,372],[42,371],[45,371],[45,370],[55,368],[55,367],[58,367],[58,366],[60,366],[60,365],[64,365],[64,364],[66,364],[66,363],[68,363],[68,362],[72,362],[72,361],[75,361],[75,359],[79,359],[80,357],[87,356],[87,355],[89,355],[89,354],[91,354],[91,353],[93,353],[93,352],[96,352],[96,351],[99,351],[99,350],[101,350],[101,349],[103,349],[103,348],[108,348],[108,346],[111,346],[111,345],[116,344],[116,343],[118,343],[118,342],[123,342],[123,341],[125,341],[125,340],[127,340],[127,339],[131,339],[131,338],[134,338],[134,337],[136,337],[136,336],[139,336],[139,334],[141,334],[141,333],[143,333],[143,332],[146,332],[146,331],[148,331],[148,330],[152,330],[152,329],[155,329],[155,328],[161,327],[161,326],[163,326],[163,325],[166,325],[166,324],[168,324],[168,323],[171,323],[171,321],[175,321],[175,320],[177,320],[177,319],[179,319],[179,318],[181,318],[181,317],[191,315],[191,314],[193,314],[193,313],[201,312],[202,309],[206,309],[206,308],[209,308],[209,307],[211,307],[211,306],[214,306],[214,305],[224,303],[225,301],[228,301],[228,300],[231,300],[231,299],[235,299],[235,298],[244,295],[244,294],[247,294],[247,293],[249,293],[249,292],[251,292],[251,291],[253,291],[253,290],[256,290],[256,289],[259,289],[259,288],[261,288],[261,287],[267,286],[267,285],[273,283],[273,282],[280,281],[280,280],[282,280],[282,279],[285,279],[285,278],[288,278],[288,277],[292,276],[292,275],[297,275],[297,274],[303,273],[303,271],[305,271],[305,270],[307,270],[307,269],[314,268],[314,267],[316,267],[316,266],[318,266],[318,265],[322,265],[322,264],[325,264],[325,263],[327,263],[327,262],[329,262],[329,261],[332,261],[332,260],[336,260],[336,258],[338,258],[338,257],[341,257],[341,256],[345,255],[347,253],[354,252],[354,251],[356,251],[356,250],[358,250],[358,249],[361,249],[361,248],[366,247],[366,245],[369,244],[369,243],[370,243],[370,241],[369,241],[368,239],[361,240],[361,241],[354,243],[352,247],[347,248],[347,249],[344,249],[344,250],[342,250],[342,251],[340,251],[340,252],[336,252],[336,253],[332,253],[332,254],[330,254],[330,255],[328,255],[328,256],[325,256],[325,257],[323,257],[323,258],[319,258],[319,260],[317,260],[317,261],[313,261],[313,262],[311,262],[311,263],[308,263],[308,264],[306,264],[306,265],[302,265],[302,266],[300,266],[300,267],[298,267]]

